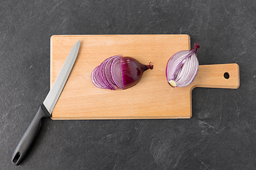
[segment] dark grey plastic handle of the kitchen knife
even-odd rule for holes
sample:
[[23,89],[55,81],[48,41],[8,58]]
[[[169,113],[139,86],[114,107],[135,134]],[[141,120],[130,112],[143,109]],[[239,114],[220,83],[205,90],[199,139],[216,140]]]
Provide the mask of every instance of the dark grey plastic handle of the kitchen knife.
[[20,142],[18,142],[18,145],[11,158],[11,162],[13,164],[20,164],[22,159],[26,157],[28,149],[31,147],[33,141],[36,139],[36,136],[38,135],[38,132],[41,128],[42,118],[48,117],[50,117],[50,113],[47,111],[46,107],[42,103],[40,108],[38,109],[38,112],[36,113],[35,118],[33,118],[31,124],[24,133]]

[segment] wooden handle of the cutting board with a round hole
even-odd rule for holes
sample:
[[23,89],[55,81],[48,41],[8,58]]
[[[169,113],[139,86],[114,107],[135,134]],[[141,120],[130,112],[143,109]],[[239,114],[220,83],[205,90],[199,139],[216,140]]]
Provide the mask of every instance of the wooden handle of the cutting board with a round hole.
[[192,89],[195,87],[238,89],[239,66],[236,63],[200,65],[196,79],[191,85]]

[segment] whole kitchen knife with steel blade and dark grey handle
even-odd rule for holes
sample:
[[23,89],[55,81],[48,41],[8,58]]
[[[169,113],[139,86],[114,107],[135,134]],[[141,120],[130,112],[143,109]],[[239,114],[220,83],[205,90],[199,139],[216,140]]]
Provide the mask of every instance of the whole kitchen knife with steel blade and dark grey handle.
[[20,142],[14,151],[14,154],[11,158],[11,162],[13,164],[20,164],[22,159],[26,157],[28,153],[29,147],[31,147],[33,140],[35,140],[36,135],[38,135],[38,131],[41,128],[41,119],[42,118],[50,118],[53,108],[58,101],[58,98],[65,86],[65,82],[68,79],[71,69],[73,68],[73,64],[75,63],[76,57],[78,56],[78,50],[80,47],[80,40],[75,43],[75,45],[70,50],[70,53],[63,64],[58,77],[55,79],[53,87],[50,89],[46,99],[41,104],[38,112],[36,113],[35,118],[33,118],[31,124],[28,129],[24,133]]

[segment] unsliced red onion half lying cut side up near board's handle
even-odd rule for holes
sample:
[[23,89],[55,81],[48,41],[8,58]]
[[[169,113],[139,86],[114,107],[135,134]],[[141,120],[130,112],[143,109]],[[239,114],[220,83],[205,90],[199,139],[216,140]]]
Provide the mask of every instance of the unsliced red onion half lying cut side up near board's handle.
[[188,86],[196,78],[199,69],[196,52],[198,44],[191,50],[176,52],[166,66],[166,79],[172,87]]

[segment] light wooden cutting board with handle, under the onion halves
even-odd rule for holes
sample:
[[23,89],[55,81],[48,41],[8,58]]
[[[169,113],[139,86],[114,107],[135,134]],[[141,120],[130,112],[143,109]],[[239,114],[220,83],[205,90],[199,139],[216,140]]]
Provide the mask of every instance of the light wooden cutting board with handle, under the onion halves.
[[[166,81],[166,63],[175,52],[190,49],[188,35],[53,35],[50,86],[78,40],[78,58],[53,110],[53,120],[191,118],[193,88],[237,89],[240,84],[238,64],[213,64],[200,65],[191,85],[171,88]],[[154,69],[146,70],[139,84],[130,89],[95,87],[90,79],[92,70],[114,55],[134,57],[142,64],[151,62]]]

